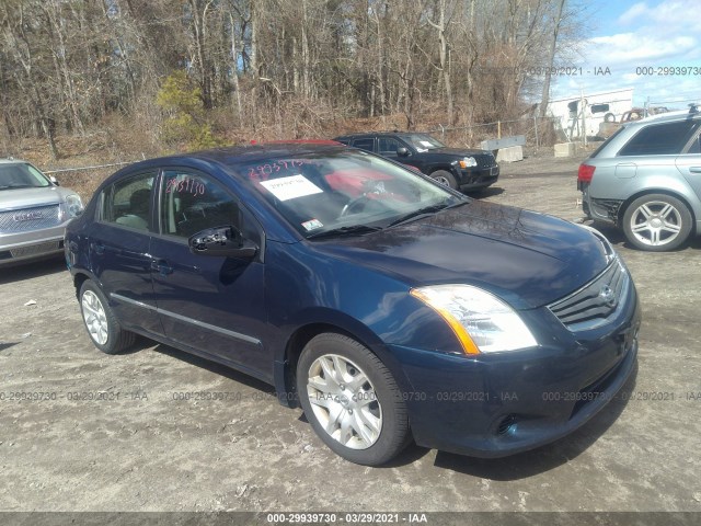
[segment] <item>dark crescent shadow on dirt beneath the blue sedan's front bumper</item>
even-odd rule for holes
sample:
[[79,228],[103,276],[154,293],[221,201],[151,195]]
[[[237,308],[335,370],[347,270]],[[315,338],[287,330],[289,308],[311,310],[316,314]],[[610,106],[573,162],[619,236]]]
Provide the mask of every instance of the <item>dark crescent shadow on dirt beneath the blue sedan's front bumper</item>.
[[526,479],[567,464],[587,450],[619,419],[631,398],[637,364],[619,393],[591,420],[552,444],[504,458],[474,458],[438,451],[434,465],[472,477],[512,481]]

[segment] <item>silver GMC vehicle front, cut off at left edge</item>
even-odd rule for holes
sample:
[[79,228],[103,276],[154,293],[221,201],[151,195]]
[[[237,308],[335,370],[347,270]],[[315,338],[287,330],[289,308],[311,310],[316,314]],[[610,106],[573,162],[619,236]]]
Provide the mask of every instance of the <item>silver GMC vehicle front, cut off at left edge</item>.
[[64,253],[64,230],[82,213],[79,195],[26,161],[0,159],[0,266]]

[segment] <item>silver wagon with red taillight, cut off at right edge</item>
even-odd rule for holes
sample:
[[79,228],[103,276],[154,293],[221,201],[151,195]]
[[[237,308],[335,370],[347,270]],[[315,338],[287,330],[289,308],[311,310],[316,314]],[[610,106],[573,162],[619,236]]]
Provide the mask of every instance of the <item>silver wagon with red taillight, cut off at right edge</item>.
[[673,250],[701,233],[700,132],[697,106],[623,125],[579,165],[585,215],[641,250]]

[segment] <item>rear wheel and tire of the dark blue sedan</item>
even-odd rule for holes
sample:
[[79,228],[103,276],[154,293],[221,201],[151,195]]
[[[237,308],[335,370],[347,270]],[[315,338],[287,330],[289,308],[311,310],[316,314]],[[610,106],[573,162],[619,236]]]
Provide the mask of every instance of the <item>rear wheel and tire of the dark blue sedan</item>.
[[78,298],[85,329],[95,347],[106,354],[117,354],[134,344],[136,334],[122,329],[107,298],[94,282],[87,279]]

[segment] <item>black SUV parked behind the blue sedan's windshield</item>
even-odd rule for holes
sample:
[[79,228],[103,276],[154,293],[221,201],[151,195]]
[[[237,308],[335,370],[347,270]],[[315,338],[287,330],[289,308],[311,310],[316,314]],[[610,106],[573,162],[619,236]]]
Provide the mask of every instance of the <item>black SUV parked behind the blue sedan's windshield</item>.
[[427,134],[352,134],[334,140],[409,164],[463,192],[486,188],[499,176],[499,167],[491,151],[448,148]]

